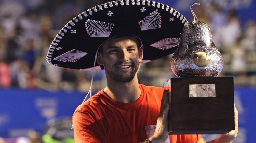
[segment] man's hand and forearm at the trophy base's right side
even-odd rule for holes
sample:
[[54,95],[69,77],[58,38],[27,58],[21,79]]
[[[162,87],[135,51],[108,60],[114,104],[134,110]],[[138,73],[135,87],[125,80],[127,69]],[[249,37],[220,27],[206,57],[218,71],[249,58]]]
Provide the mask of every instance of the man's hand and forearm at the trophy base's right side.
[[[232,143],[232,141],[236,138],[238,133],[238,111],[235,108],[235,104],[234,104],[234,113],[235,113],[235,130],[232,130],[226,134],[222,134],[220,135],[219,138],[216,138],[207,143]],[[206,143],[206,141],[203,138],[201,138],[199,140],[199,143]]]

